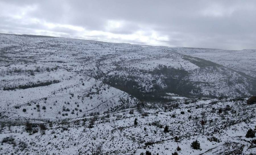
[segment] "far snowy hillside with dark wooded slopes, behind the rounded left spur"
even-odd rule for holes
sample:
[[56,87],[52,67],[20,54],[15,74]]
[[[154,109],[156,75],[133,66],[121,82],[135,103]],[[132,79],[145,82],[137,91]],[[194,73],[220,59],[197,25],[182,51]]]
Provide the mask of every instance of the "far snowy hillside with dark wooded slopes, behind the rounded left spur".
[[[255,94],[254,78],[180,54],[179,48],[3,34],[0,40],[2,76],[12,65],[23,65],[19,68],[23,69],[30,64],[83,73],[147,100],[159,100],[166,93],[187,97]],[[211,74],[209,67],[214,67]]]

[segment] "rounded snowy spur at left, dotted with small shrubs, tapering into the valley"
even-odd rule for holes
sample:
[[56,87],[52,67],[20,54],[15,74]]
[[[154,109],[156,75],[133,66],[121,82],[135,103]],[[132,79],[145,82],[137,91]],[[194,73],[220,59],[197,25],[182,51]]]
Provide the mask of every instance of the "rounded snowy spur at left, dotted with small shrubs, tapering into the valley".
[[115,111],[138,102],[94,78],[64,69],[43,70],[40,67],[34,75],[20,71],[1,77],[2,117],[74,118],[91,112]]

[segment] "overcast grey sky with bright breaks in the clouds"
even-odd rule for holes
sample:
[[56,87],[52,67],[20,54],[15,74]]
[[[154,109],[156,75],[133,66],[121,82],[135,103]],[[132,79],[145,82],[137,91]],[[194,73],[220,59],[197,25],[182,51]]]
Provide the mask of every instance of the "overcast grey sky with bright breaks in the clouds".
[[256,49],[256,1],[0,0],[0,33]]

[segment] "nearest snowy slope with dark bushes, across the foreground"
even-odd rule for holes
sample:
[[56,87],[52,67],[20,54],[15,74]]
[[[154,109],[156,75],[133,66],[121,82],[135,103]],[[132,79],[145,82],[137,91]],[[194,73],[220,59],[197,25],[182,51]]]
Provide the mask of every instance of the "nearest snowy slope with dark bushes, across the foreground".
[[[255,116],[255,104],[244,98],[198,98],[54,122],[12,120],[16,125],[2,125],[0,152],[256,154],[255,140],[246,137],[250,128],[256,131]],[[190,146],[195,140],[199,149]]]

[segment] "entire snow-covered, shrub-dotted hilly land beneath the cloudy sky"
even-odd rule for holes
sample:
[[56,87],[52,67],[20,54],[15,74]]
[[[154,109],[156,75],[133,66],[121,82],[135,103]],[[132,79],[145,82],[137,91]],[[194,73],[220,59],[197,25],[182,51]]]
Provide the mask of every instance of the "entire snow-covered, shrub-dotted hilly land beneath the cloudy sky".
[[0,154],[256,154],[255,52],[223,51],[0,34]]

